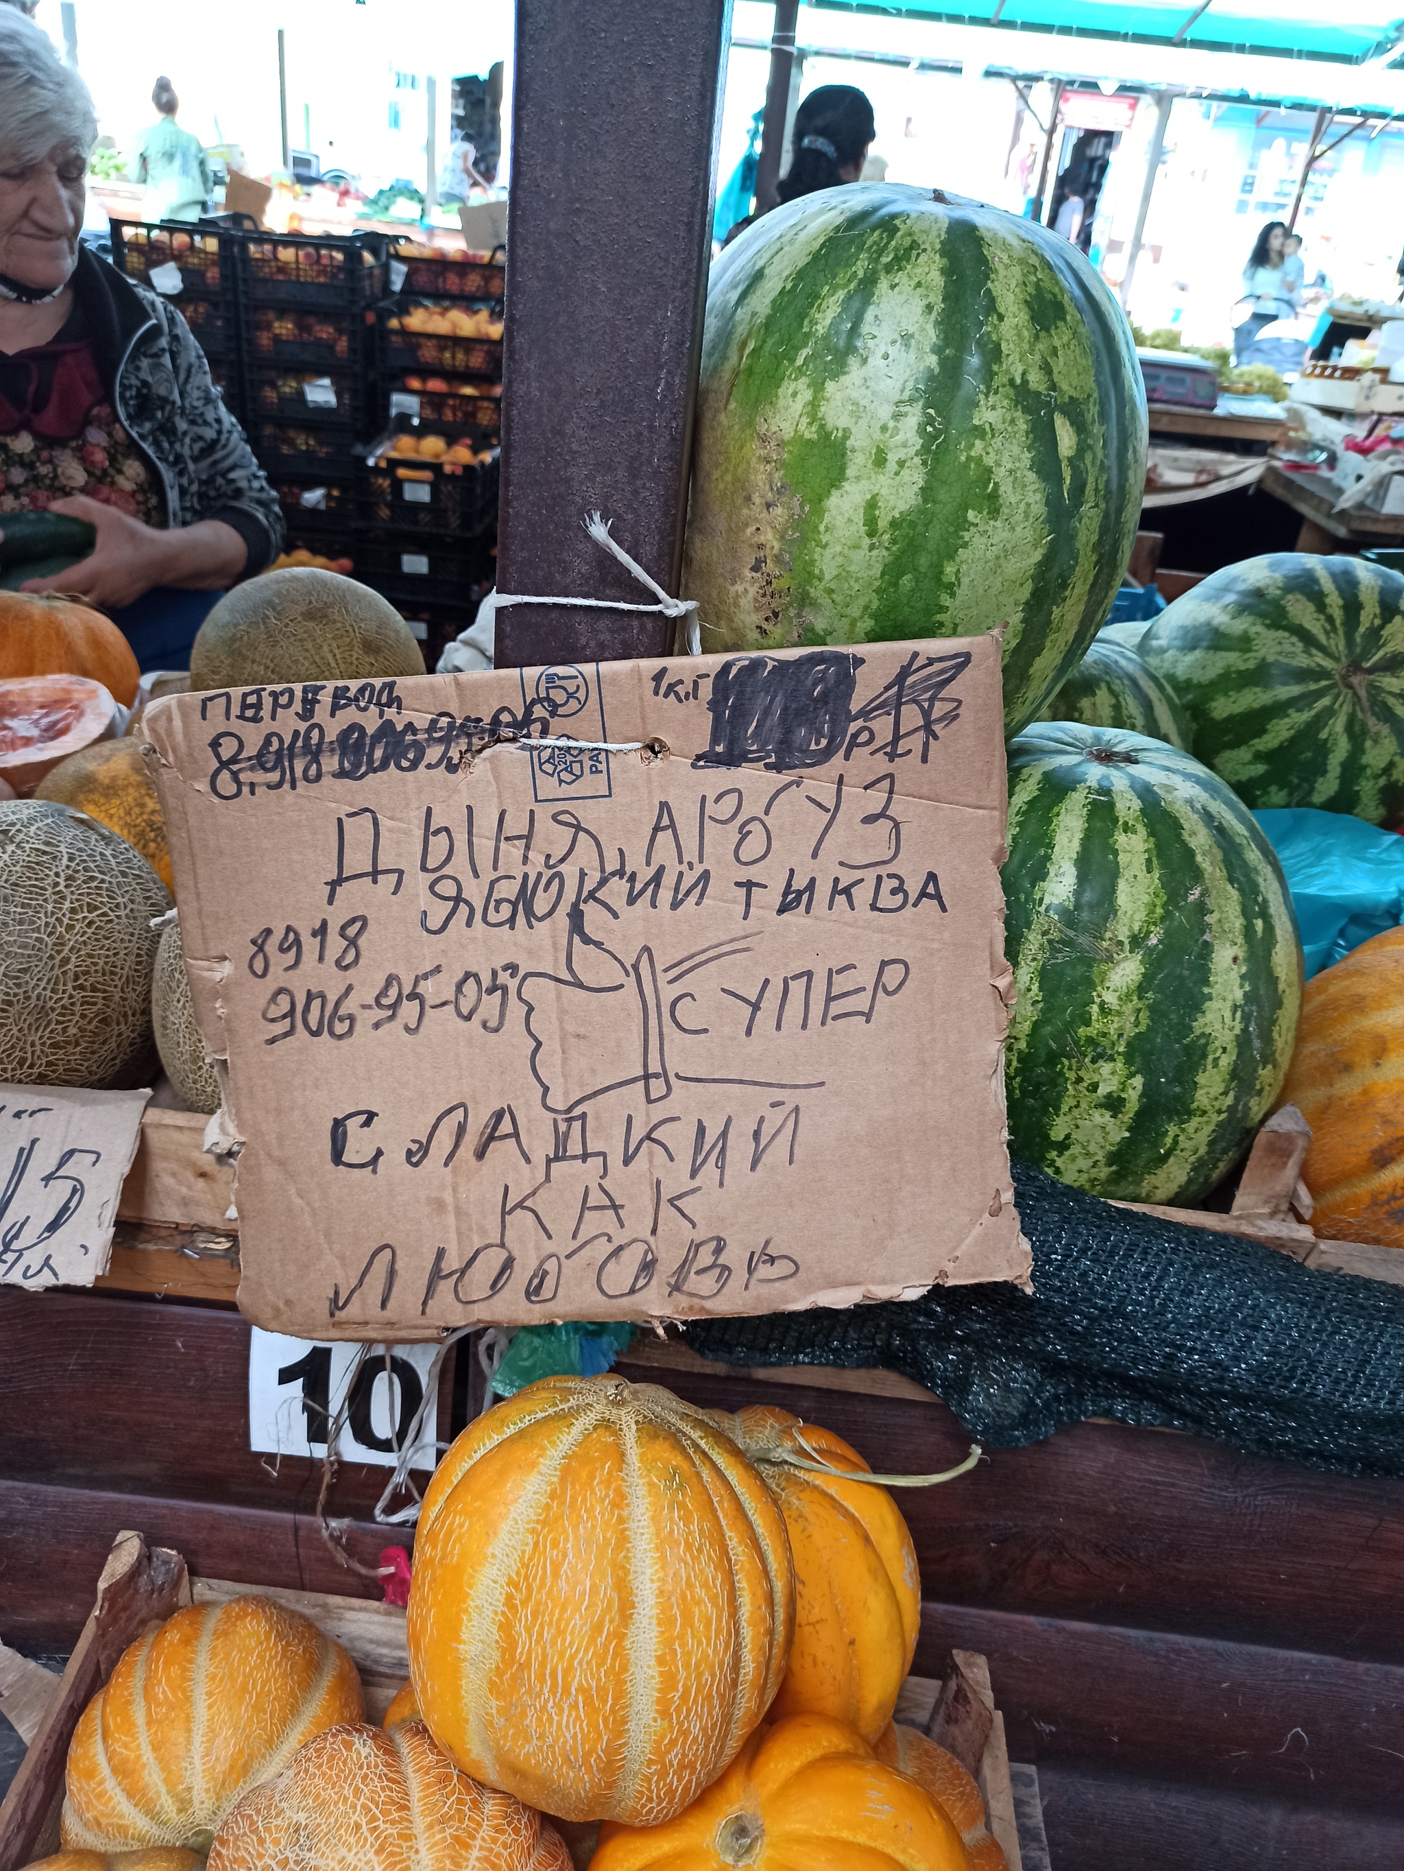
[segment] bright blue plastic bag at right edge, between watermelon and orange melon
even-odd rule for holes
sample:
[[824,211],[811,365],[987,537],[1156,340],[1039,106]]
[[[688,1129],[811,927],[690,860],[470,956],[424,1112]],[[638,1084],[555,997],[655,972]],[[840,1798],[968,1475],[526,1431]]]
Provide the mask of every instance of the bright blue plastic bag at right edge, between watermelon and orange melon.
[[1286,874],[1307,980],[1404,922],[1404,838],[1348,812],[1254,812]]

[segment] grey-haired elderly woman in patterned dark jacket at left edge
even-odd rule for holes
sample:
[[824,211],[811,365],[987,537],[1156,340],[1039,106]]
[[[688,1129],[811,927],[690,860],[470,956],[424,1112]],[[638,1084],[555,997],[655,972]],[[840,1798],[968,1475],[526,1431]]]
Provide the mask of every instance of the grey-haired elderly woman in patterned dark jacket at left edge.
[[200,593],[262,571],[282,522],[181,314],[79,243],[95,131],[77,71],[0,6],[0,529],[92,522],[92,556],[24,589],[77,593],[142,668],[185,668]]

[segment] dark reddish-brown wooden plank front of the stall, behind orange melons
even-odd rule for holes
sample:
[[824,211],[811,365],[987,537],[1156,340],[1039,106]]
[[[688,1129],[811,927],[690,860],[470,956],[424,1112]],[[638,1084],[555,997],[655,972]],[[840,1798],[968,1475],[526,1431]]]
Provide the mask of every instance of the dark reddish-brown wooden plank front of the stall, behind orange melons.
[[[320,1463],[249,1450],[249,1327],[228,1302],[0,1289],[0,1639],[67,1650],[123,1527],[196,1572],[366,1596],[316,1521]],[[441,1398],[477,1407],[466,1340]],[[452,1355],[451,1355],[452,1356]],[[968,1435],[884,1371],[746,1371],[641,1343],[632,1379],[714,1409],[780,1403],[877,1467]],[[329,1512],[376,1564],[383,1469]],[[1404,1482],[1346,1480],[1086,1422],[901,1497],[924,1583],[918,1673],[989,1656],[1034,1762],[1054,1871],[1404,1864]]]

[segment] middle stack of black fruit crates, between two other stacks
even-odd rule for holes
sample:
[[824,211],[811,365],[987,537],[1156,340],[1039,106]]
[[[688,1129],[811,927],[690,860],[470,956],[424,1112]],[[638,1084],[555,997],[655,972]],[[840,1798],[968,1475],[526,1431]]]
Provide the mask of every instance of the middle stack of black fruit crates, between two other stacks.
[[249,440],[282,505],[284,552],[350,559],[361,576],[357,501],[376,423],[385,241],[262,232],[232,241]]

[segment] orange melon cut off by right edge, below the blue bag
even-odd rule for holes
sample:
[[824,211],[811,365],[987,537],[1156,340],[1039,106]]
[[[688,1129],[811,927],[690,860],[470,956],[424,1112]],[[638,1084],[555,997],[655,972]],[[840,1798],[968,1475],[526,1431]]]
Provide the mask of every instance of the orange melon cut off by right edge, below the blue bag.
[[1316,1233],[1404,1248],[1404,928],[1307,982],[1282,1104],[1312,1128]]

